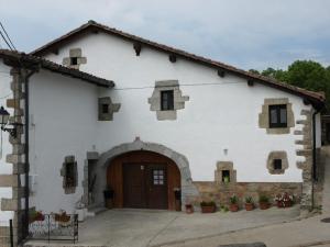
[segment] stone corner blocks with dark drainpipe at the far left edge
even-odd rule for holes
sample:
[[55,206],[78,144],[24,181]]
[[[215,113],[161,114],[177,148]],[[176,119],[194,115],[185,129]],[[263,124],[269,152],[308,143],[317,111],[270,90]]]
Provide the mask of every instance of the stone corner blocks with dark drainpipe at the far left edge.
[[[25,93],[23,86],[26,78],[26,70],[22,68],[12,68],[11,71],[12,82],[11,90],[13,98],[7,100],[7,106],[13,109],[13,115],[10,116],[11,124],[23,124],[24,121],[24,99]],[[13,127],[13,126],[10,126]],[[21,184],[21,175],[24,175],[26,165],[24,164],[25,146],[23,143],[23,125],[15,125],[16,137],[10,136],[9,143],[12,145],[12,154],[6,157],[6,161],[12,164],[12,175],[0,176],[0,187],[12,188],[12,198],[1,200],[1,211],[13,211],[13,240],[14,246],[22,239],[23,234],[23,203],[24,201],[24,187]],[[9,227],[1,227],[0,239],[3,247],[9,246],[9,238],[6,233]]]

